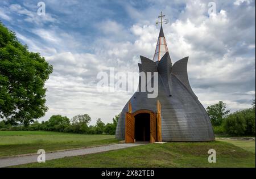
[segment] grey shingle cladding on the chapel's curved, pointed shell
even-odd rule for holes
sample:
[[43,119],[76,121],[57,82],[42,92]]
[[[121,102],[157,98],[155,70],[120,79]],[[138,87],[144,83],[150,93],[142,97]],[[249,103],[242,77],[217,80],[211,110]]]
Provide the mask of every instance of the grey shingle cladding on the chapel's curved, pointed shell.
[[[167,53],[161,61],[171,60]],[[166,59],[164,59],[166,58]],[[132,113],[146,109],[158,114],[158,100],[161,103],[161,125],[163,141],[209,141],[214,140],[214,133],[209,116],[204,106],[193,93],[187,77],[187,59],[183,58],[172,66],[158,66],[161,62],[141,57],[140,69],[159,72],[158,97],[148,98],[148,92],[137,91],[130,99]],[[176,65],[178,64],[178,65]],[[162,71],[162,70],[170,70]],[[182,70],[182,73],[178,73]],[[168,83],[167,83],[168,82]],[[140,83],[140,82],[139,82]],[[140,85],[140,84],[139,84]],[[171,88],[171,90],[170,90]],[[171,95],[170,95],[171,91]],[[115,137],[125,139],[125,115],[128,103],[125,105],[118,120]]]

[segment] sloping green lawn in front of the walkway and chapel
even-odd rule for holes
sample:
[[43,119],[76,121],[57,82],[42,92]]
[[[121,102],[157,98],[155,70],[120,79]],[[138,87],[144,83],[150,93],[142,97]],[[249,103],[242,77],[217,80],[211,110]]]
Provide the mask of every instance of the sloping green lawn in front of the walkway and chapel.
[[[208,163],[211,148],[217,163]],[[255,167],[255,153],[222,141],[170,142],[16,167]]]

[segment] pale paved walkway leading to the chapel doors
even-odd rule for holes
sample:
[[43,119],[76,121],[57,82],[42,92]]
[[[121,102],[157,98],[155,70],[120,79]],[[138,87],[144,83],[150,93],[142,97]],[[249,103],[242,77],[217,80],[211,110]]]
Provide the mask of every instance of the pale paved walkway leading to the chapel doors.
[[[67,150],[67,151],[61,151],[61,152],[52,152],[52,153],[46,153],[46,160],[60,159],[63,157],[86,155],[86,154],[95,154],[98,152],[105,152],[105,151],[118,150],[121,148],[141,146],[143,144],[147,144],[147,143],[141,142],[141,143],[110,144],[107,146],[89,147],[89,148]],[[14,165],[35,163],[37,162],[38,156],[39,154],[0,159],[0,167],[10,167]]]

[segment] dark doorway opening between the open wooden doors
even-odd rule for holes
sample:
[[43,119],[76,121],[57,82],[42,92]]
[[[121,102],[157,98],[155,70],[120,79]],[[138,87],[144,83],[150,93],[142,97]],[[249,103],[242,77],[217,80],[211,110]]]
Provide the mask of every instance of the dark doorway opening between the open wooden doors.
[[136,141],[150,140],[150,114],[139,113],[134,116],[134,137]]

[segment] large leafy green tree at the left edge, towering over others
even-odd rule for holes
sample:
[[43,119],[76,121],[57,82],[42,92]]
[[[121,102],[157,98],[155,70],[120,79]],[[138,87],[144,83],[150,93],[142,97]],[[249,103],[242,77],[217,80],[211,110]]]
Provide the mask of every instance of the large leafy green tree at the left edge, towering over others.
[[25,126],[47,111],[44,83],[52,66],[39,53],[28,51],[0,22],[0,118]]

